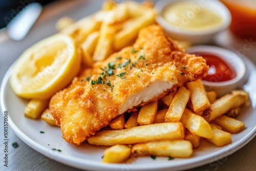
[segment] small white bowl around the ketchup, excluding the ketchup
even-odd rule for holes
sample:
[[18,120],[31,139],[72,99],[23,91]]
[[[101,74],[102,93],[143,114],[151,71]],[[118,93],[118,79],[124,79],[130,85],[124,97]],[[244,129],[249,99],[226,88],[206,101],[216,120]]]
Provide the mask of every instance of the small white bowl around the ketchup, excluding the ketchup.
[[[186,49],[187,53],[195,54],[197,52],[212,54],[220,57],[236,72],[236,77],[228,81],[210,82],[202,80],[206,91],[215,91],[218,97],[221,97],[232,90],[241,89],[245,76],[245,63],[241,57],[227,49],[215,46],[194,46]],[[200,53],[199,53],[200,54]]]

